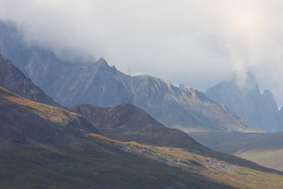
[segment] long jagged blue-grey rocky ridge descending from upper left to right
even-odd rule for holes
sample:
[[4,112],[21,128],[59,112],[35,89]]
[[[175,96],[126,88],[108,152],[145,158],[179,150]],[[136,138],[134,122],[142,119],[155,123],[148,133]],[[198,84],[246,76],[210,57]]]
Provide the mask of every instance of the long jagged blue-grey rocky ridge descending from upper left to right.
[[129,76],[96,63],[68,62],[50,50],[27,45],[13,25],[0,24],[0,52],[11,59],[48,96],[67,107],[89,103],[115,107],[131,103],[163,125],[186,131],[259,132],[223,105],[193,88],[178,88],[154,76]]

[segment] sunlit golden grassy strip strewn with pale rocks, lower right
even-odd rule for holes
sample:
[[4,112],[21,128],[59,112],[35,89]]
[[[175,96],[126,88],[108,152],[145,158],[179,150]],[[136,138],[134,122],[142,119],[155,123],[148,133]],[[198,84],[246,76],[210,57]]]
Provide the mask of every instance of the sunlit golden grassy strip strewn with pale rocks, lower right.
[[[92,134],[92,136],[93,137],[91,137],[90,140],[102,146],[116,146],[115,143],[117,142],[112,139],[107,139],[106,137],[102,137],[98,134]],[[156,153],[163,154],[163,156],[171,158],[177,162],[176,164],[169,163],[172,166],[180,165],[182,162],[192,162],[203,171],[205,176],[219,183],[232,185],[236,188],[283,188],[283,176],[274,173],[265,173],[243,166],[226,164],[224,161],[216,161],[215,159],[193,154],[180,148],[156,147],[145,144],[137,144],[135,142],[118,143],[122,143],[128,147],[134,144],[154,150]],[[196,166],[190,167],[194,168]]]

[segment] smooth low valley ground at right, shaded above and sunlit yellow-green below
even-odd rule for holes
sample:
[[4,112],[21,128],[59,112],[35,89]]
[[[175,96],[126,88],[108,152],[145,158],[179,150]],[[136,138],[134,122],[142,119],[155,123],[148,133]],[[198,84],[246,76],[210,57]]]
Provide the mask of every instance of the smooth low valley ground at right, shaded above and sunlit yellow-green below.
[[216,151],[233,154],[262,166],[283,171],[283,132],[204,132],[190,133],[190,136]]

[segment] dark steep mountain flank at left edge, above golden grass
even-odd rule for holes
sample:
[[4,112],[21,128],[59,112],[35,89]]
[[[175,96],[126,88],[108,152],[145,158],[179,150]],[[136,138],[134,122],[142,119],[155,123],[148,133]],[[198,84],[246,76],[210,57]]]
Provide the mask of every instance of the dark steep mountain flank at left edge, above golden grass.
[[26,78],[23,72],[14,67],[4,57],[0,55],[0,86],[4,86],[13,93],[28,98],[32,101],[59,106],[49,96],[35,86],[30,79]]

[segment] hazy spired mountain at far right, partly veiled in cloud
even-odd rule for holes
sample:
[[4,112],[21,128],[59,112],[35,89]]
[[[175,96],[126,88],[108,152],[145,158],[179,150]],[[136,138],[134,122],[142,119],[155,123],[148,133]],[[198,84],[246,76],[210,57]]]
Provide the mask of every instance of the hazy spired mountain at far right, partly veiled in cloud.
[[237,84],[236,79],[222,81],[209,88],[206,95],[262,130],[283,131],[283,114],[278,110],[275,98],[268,90],[260,93],[255,76],[250,72],[242,86]]

